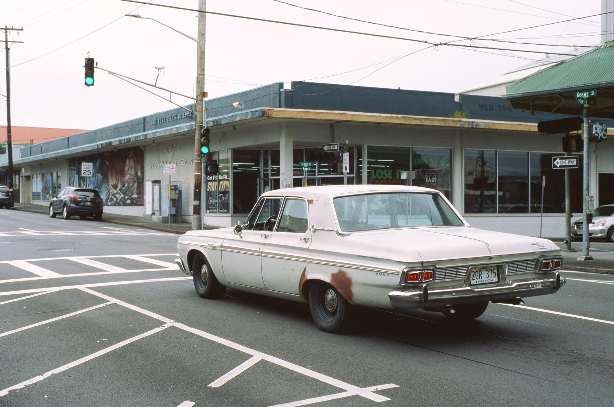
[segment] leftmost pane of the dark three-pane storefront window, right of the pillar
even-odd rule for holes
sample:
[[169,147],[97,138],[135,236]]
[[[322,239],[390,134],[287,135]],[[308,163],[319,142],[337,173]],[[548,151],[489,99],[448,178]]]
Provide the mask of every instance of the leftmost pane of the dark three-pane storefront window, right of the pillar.
[[497,212],[496,153],[465,150],[465,213]]

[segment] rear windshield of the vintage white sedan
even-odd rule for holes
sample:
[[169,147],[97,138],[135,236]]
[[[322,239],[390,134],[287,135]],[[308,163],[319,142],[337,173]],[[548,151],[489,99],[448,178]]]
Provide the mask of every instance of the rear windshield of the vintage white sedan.
[[463,225],[439,195],[430,193],[341,196],[333,205],[343,231]]

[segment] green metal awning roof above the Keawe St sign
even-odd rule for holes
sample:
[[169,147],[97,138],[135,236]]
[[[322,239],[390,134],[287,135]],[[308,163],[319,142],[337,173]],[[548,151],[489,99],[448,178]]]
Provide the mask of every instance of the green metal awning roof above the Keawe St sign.
[[597,90],[591,98],[591,117],[614,118],[614,45],[604,45],[535,72],[506,87],[515,109],[581,115],[577,91]]

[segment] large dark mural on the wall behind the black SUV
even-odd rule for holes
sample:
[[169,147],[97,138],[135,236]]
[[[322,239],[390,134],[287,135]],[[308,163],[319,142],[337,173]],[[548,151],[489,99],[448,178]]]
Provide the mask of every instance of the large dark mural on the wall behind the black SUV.
[[[91,175],[82,176],[82,163]],[[98,190],[107,206],[143,204],[143,150],[140,147],[79,157],[69,161],[69,183]]]

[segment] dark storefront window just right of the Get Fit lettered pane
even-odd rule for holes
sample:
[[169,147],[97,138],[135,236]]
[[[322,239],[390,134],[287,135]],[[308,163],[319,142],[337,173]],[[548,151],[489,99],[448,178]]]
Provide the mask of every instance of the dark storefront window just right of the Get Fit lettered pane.
[[258,200],[260,150],[233,150],[233,212],[247,214]]

